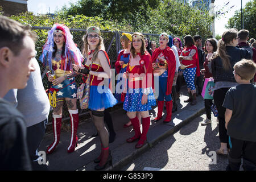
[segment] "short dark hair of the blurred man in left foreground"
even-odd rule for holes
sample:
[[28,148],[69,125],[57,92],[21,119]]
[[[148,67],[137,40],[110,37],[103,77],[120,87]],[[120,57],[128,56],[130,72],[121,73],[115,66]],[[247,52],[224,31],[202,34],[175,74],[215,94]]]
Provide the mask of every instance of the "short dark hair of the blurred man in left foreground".
[[31,31],[29,26],[23,26],[13,19],[0,15],[0,48],[8,47],[17,56],[23,49],[25,36],[36,40],[36,34]]

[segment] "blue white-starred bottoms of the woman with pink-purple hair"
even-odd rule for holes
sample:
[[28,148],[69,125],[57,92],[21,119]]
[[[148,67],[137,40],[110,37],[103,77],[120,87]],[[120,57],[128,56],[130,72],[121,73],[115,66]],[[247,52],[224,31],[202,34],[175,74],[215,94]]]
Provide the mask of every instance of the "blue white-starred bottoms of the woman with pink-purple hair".
[[52,85],[52,88],[59,89],[57,98],[76,98],[77,86],[75,78],[65,79],[59,85]]

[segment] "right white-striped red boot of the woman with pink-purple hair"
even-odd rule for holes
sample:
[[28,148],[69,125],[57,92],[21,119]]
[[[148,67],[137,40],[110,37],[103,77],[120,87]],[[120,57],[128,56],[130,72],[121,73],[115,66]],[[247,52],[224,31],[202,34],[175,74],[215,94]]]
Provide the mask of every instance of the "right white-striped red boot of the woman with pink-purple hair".
[[68,147],[68,153],[75,151],[75,147],[77,147],[77,127],[79,124],[79,114],[78,110],[68,110],[70,119],[71,119],[71,140]]

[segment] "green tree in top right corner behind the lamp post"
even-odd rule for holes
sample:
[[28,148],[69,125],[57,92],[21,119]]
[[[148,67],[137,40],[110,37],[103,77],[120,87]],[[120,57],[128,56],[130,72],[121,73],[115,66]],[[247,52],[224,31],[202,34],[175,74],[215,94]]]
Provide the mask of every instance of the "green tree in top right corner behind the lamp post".
[[[245,8],[242,9],[244,17],[244,29],[250,31],[250,38],[256,38],[256,0],[247,2]],[[241,10],[237,10],[232,18],[228,20],[226,28],[237,28],[241,30]]]

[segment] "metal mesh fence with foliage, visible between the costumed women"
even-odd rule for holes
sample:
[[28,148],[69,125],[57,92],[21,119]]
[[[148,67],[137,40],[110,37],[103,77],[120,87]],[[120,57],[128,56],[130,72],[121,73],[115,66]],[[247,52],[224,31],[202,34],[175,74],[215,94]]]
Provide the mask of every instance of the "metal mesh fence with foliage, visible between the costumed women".
[[[36,51],[38,52],[36,55],[36,59],[39,62],[40,69],[41,69],[41,74],[42,74],[42,80],[43,80],[43,85],[45,89],[48,89],[51,84],[47,80],[46,77],[46,72],[45,68],[43,67],[43,64],[39,61],[39,57],[42,54],[42,48],[44,43],[46,42],[47,38],[47,32],[51,29],[51,27],[32,27],[32,29],[36,32],[38,35],[38,41],[36,42]],[[86,34],[85,29],[76,29],[76,28],[71,28],[70,29],[71,34],[73,35],[73,41],[77,44],[77,47],[82,50],[83,48],[83,42],[82,42],[82,37]],[[108,53],[110,63],[112,65],[112,68],[114,68],[115,61],[117,60],[118,57],[118,52],[121,48],[121,43],[120,43],[120,37],[122,36],[123,31],[101,31],[101,36],[104,40],[104,46],[106,49],[106,52]],[[133,34],[133,32],[127,32],[130,34]],[[158,38],[159,34],[144,34],[150,41],[155,40],[156,43],[158,43]],[[76,77],[76,84],[79,86],[79,83],[82,81],[82,77],[79,75]],[[88,109],[80,109],[80,104],[79,101],[77,101],[77,107],[79,109],[79,115],[80,118],[88,118],[90,115],[88,114]],[[120,105],[114,106],[112,109],[115,110],[117,107],[120,107]],[[63,121],[69,120],[69,112],[67,105],[63,105]],[[52,111],[49,113],[48,117],[48,125],[52,121]]]

